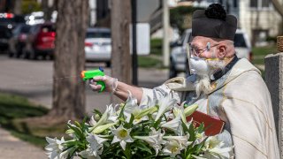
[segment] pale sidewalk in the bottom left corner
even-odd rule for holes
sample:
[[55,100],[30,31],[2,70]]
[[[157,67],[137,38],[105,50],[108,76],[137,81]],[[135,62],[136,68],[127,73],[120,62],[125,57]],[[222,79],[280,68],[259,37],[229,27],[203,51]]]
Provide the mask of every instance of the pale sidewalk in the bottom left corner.
[[41,148],[36,148],[33,145],[19,140],[11,136],[0,127],[0,159],[41,159],[47,158],[45,152]]

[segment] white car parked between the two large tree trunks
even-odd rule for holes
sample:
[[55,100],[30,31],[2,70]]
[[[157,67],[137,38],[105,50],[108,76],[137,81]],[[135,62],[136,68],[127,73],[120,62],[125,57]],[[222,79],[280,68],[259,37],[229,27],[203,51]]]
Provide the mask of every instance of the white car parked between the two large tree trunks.
[[111,65],[111,30],[109,28],[88,28],[85,39],[86,60],[105,62]]

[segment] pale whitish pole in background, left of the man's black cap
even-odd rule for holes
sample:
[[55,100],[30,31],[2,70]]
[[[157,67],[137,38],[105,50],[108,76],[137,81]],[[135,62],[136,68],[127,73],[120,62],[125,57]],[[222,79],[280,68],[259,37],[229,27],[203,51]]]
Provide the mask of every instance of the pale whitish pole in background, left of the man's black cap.
[[163,0],[163,64],[169,65],[169,9],[167,0]]

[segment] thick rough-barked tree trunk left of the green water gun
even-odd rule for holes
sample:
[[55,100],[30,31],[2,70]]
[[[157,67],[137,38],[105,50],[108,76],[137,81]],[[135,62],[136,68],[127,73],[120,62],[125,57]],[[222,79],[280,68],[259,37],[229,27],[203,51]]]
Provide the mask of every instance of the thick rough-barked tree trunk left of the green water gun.
[[57,1],[56,49],[51,117],[80,118],[85,114],[84,41],[88,0]]

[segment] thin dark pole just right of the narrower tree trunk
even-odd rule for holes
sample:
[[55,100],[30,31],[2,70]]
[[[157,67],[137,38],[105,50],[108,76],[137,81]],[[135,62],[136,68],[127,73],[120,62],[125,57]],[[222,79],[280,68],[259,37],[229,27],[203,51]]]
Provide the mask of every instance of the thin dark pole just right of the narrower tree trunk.
[[138,56],[136,52],[136,0],[132,0],[132,65],[133,65],[133,85],[138,85]]

